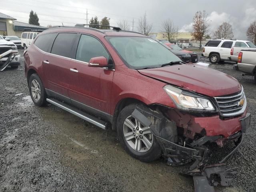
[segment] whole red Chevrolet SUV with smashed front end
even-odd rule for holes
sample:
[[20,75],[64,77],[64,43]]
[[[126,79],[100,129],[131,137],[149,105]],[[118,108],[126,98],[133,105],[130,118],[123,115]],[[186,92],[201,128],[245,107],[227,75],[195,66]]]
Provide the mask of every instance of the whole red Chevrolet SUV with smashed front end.
[[164,156],[171,165],[195,161],[191,170],[203,171],[211,144],[232,140],[238,148],[250,124],[236,79],[184,63],[140,33],[51,28],[24,58],[34,104],[112,127],[126,152],[144,162]]

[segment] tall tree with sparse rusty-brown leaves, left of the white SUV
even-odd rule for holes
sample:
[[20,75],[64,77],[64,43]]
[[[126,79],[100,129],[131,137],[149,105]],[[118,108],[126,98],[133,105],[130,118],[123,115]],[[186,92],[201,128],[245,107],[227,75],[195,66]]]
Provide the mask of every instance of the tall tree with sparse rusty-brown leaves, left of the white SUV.
[[193,32],[192,36],[194,40],[200,41],[200,48],[202,45],[202,40],[205,39],[205,35],[209,30],[209,20],[207,18],[206,11],[198,11],[196,12],[193,18]]

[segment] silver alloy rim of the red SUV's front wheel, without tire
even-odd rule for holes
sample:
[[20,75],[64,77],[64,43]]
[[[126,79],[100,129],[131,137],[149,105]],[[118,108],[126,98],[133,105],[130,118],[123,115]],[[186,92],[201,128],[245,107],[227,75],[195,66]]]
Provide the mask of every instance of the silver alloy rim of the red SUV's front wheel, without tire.
[[123,133],[128,145],[137,152],[147,152],[152,147],[153,135],[150,128],[144,127],[132,116],[124,121]]

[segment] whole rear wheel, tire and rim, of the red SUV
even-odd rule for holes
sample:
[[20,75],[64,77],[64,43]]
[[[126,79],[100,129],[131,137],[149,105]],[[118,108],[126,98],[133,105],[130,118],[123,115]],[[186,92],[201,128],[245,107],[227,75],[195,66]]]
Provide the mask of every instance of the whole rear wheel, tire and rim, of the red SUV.
[[32,101],[37,106],[46,105],[47,94],[44,85],[37,74],[32,74],[28,81],[28,87]]

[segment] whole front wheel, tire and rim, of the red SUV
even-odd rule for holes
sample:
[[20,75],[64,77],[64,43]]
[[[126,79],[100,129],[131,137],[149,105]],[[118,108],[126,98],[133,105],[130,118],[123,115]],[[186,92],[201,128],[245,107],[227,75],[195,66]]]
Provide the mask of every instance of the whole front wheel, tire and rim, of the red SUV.
[[121,145],[133,158],[152,162],[162,155],[162,150],[149,127],[144,127],[131,116],[137,104],[122,109],[117,120],[117,132]]

